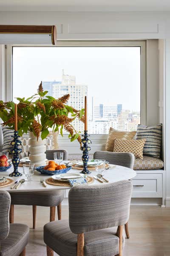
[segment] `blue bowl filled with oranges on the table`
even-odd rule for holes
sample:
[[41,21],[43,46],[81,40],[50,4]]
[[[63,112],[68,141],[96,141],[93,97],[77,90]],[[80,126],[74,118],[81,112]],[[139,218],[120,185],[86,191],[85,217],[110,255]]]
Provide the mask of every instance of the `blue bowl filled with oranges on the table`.
[[68,172],[71,169],[71,166],[65,164],[58,165],[54,161],[49,161],[48,165],[38,166],[35,169],[41,174],[54,175]]

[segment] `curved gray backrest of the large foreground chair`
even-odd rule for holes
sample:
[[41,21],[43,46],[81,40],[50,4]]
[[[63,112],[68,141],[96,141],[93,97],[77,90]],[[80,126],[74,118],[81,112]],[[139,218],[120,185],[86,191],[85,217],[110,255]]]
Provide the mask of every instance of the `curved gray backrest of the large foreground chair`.
[[68,194],[71,231],[84,233],[126,224],[131,194],[130,180],[71,188]]

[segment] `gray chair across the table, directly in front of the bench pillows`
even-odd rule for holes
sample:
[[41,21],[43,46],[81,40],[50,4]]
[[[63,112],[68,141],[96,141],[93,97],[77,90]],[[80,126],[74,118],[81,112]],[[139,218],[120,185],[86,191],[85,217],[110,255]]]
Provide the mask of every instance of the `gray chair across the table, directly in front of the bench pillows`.
[[[134,165],[134,154],[132,153],[116,153],[109,151],[96,151],[94,153],[94,159],[105,159],[111,164],[124,166],[133,169]],[[129,238],[128,222],[125,224],[126,237]]]

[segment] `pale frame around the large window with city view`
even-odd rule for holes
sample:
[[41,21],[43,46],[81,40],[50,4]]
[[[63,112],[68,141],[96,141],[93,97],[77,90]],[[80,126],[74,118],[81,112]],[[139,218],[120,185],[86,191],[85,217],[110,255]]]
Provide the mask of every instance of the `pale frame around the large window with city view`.
[[[12,79],[12,55],[13,47],[56,47],[47,45],[7,45],[6,47],[6,100],[12,100],[13,79]],[[140,81],[140,118],[141,124],[147,125],[147,89],[146,89],[146,40],[142,41],[113,41],[113,40],[58,40],[57,47],[140,47],[141,49],[141,81]],[[105,140],[107,134],[92,134],[96,143],[99,137]],[[64,139],[67,135],[64,135]],[[62,139],[63,140],[63,139]]]

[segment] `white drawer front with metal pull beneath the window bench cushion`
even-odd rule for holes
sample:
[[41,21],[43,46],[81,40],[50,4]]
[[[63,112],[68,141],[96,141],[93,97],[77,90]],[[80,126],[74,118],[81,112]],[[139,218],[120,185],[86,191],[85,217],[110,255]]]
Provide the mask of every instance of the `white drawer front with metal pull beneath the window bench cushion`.
[[162,197],[162,174],[138,173],[133,178],[133,198]]

